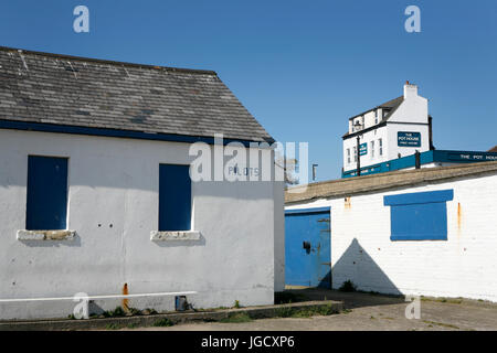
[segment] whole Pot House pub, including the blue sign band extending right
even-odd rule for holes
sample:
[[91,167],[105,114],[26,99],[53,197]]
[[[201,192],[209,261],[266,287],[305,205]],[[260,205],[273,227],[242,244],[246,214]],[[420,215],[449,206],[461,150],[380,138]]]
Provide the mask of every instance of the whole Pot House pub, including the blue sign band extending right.
[[349,118],[342,139],[342,178],[356,176],[358,170],[366,175],[497,160],[491,152],[435,150],[427,99],[409,82],[402,96]]

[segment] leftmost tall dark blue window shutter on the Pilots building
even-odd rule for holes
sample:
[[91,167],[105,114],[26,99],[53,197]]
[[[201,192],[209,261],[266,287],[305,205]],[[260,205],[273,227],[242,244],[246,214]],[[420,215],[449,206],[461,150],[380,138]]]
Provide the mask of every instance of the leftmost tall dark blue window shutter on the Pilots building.
[[27,193],[27,229],[65,229],[67,159],[29,156]]

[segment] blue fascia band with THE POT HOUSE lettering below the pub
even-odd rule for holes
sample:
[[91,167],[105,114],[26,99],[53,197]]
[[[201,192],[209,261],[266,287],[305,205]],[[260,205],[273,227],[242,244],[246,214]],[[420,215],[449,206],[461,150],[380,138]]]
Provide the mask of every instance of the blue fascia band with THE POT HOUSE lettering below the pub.
[[[450,151],[450,150],[431,150],[420,153],[421,165],[427,163],[475,163],[497,161],[497,152],[477,152],[477,151]],[[361,168],[361,175],[378,174],[414,168],[416,164],[415,156],[392,159],[387,162],[372,164]],[[351,178],[357,175],[357,170],[350,170],[341,173],[341,178]]]

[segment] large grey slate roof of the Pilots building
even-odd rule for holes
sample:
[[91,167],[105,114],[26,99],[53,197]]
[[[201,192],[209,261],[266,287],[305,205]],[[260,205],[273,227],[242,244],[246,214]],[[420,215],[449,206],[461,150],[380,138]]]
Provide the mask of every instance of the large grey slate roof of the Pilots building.
[[273,141],[215,72],[4,46],[0,120]]

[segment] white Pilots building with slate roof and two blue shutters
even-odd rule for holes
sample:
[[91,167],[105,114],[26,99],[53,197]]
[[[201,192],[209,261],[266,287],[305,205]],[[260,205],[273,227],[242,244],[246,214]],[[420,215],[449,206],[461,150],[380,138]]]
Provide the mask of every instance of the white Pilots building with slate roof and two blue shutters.
[[[76,302],[57,298],[80,292],[273,303],[282,183],[188,175],[214,132],[272,141],[215,73],[1,47],[0,75],[0,319],[65,318]],[[175,296],[128,304],[175,310]]]

